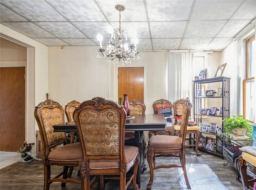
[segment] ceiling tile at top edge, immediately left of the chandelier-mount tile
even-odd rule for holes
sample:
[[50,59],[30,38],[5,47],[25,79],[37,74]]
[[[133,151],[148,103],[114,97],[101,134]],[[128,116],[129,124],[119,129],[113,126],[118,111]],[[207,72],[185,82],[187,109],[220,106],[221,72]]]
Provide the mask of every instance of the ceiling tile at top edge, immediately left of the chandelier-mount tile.
[[106,21],[94,1],[46,0],[68,21]]

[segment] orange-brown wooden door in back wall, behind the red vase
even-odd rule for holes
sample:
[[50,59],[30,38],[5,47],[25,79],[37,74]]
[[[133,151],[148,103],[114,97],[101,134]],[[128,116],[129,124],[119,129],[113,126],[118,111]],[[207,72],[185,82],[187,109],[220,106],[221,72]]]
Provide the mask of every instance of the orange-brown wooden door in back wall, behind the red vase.
[[144,102],[144,67],[118,68],[118,97],[128,94],[128,100]]

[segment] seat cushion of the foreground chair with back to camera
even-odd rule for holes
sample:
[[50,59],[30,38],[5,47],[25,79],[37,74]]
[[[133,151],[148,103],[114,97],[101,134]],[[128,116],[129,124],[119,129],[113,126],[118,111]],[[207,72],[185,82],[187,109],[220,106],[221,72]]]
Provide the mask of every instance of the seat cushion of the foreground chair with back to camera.
[[[124,146],[124,154],[127,162],[127,170],[134,165],[137,155],[139,154],[139,149],[136,146]],[[115,169],[119,168],[118,160],[90,160],[89,168],[94,170],[100,169]]]

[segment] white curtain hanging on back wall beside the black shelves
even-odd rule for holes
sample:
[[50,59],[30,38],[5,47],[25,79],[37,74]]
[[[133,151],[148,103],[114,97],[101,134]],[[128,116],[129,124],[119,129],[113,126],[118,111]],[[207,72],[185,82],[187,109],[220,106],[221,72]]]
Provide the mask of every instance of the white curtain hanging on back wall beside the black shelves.
[[168,100],[175,102],[181,98],[193,98],[194,76],[192,72],[192,53],[168,54]]

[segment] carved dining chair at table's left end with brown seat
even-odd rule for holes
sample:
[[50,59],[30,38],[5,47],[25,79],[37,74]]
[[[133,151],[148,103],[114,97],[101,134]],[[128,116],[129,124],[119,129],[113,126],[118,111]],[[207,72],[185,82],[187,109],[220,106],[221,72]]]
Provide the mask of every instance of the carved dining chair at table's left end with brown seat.
[[[81,184],[79,180],[68,178],[68,168],[78,166],[78,162],[82,161],[80,144],[67,144],[65,132],[53,132],[53,125],[65,122],[62,106],[53,100],[46,100],[36,106],[34,116],[43,144],[44,190],[48,190],[52,182],[62,182],[62,187],[69,182]],[[62,144],[64,146],[57,148]],[[53,178],[51,178],[52,165],[63,167],[62,172]]]

